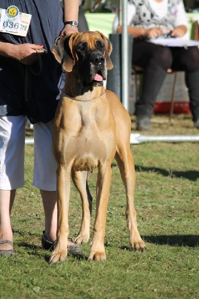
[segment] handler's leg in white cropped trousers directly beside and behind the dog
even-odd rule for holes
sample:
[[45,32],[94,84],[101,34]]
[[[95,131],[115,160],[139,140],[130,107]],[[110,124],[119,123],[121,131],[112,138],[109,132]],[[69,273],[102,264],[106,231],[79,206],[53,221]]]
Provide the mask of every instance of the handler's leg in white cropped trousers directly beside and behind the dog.
[[[52,146],[53,121],[34,125],[34,178],[33,185],[40,189],[45,213],[45,238],[49,242],[56,240],[57,232],[57,162]],[[82,250],[68,240],[68,252],[80,254]]]

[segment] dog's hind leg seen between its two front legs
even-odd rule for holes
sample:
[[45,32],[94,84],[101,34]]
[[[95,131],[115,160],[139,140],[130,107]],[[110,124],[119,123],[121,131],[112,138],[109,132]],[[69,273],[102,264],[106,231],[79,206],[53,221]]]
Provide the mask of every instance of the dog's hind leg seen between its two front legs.
[[75,171],[74,169],[72,169],[71,176],[73,183],[78,189],[82,200],[82,224],[80,231],[75,238],[75,243],[84,244],[88,243],[90,238],[90,222],[93,197],[89,190],[87,171]]

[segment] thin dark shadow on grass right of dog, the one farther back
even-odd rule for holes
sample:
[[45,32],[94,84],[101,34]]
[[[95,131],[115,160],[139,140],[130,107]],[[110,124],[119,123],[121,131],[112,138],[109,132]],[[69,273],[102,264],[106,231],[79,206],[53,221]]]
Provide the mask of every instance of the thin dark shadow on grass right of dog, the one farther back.
[[162,169],[162,168],[158,168],[158,167],[144,167],[144,166],[139,166],[139,165],[135,165],[135,171],[137,172],[158,172],[160,174],[162,174],[163,176],[167,176],[167,177],[183,177],[192,181],[196,181],[199,178],[199,171],[196,170],[189,170],[189,171],[175,171],[172,170],[172,172],[166,170],[166,169]]

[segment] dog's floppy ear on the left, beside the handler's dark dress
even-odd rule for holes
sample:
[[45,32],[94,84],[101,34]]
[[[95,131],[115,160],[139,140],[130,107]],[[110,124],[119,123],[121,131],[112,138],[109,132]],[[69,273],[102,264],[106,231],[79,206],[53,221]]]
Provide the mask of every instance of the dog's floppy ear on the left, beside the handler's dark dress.
[[75,58],[73,56],[73,39],[77,33],[72,33],[66,36],[58,36],[52,47],[52,53],[56,60],[61,64],[66,72],[72,72],[75,65]]

